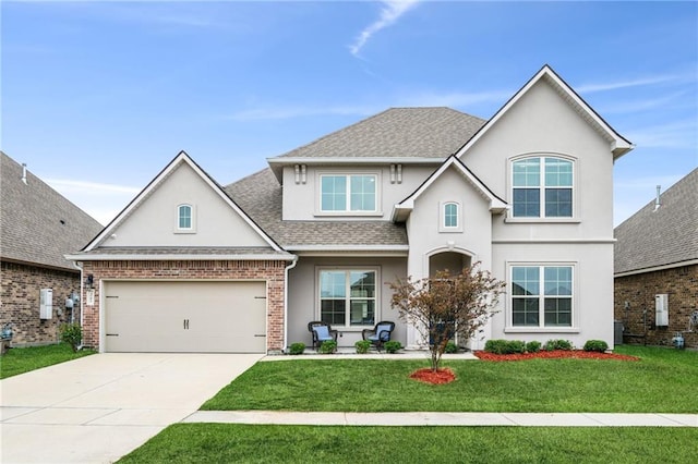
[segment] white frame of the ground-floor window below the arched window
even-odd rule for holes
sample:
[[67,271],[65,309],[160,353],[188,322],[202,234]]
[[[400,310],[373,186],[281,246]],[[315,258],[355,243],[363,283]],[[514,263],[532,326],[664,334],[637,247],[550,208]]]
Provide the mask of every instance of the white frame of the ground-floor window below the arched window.
[[[515,326],[514,325],[514,268],[534,267],[539,268],[539,305],[538,326]],[[571,269],[571,308],[569,326],[545,326],[545,278],[544,269],[550,267],[567,267]],[[508,333],[579,333],[578,312],[579,307],[579,282],[577,262],[575,261],[512,261],[507,262],[507,303],[506,303],[506,328]],[[554,297],[554,296],[549,296]]]

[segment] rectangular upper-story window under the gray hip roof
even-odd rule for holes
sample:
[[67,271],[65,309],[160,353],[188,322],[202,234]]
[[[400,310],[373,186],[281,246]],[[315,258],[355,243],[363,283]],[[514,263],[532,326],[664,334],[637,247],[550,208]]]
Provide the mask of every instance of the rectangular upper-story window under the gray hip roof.
[[375,174],[322,174],[320,184],[322,212],[374,212],[377,209]]

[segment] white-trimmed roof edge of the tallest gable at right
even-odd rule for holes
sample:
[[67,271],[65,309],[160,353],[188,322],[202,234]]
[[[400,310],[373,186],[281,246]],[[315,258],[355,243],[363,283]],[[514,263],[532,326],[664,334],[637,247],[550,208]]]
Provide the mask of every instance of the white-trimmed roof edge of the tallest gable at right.
[[506,112],[539,82],[545,82],[552,86],[561,98],[569,105],[595,132],[604,137],[610,145],[613,158],[617,159],[630,151],[634,145],[618,134],[603,118],[601,118],[565,81],[559,77],[552,68],[545,64],[533,77],[531,77],[514,96],[482,126],[480,130],[462,145],[456,155],[462,156],[483,137]]

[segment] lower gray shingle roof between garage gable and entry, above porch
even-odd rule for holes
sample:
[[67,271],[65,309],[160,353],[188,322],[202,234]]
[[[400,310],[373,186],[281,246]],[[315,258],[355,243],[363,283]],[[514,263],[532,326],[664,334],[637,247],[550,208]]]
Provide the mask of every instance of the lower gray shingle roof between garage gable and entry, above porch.
[[405,227],[389,221],[282,221],[281,186],[270,169],[232,183],[225,191],[284,247],[407,245]]

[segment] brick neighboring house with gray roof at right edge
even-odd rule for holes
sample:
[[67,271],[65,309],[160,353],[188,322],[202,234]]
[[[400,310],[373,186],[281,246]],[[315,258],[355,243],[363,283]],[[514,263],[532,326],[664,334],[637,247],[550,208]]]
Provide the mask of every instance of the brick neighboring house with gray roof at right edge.
[[686,346],[698,346],[698,169],[618,225],[615,237],[614,309],[624,341],[666,345],[682,332]]

